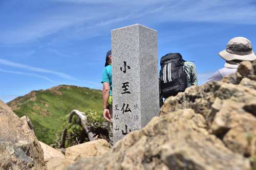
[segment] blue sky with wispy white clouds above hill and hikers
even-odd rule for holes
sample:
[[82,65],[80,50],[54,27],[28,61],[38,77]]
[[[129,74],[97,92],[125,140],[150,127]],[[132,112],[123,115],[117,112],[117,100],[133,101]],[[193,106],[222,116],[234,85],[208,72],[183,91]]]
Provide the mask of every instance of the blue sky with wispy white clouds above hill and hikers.
[[179,52],[199,83],[223,67],[229,39],[256,48],[256,1],[0,0],[0,99],[59,84],[101,89],[111,30],[140,23],[158,31],[158,60]]

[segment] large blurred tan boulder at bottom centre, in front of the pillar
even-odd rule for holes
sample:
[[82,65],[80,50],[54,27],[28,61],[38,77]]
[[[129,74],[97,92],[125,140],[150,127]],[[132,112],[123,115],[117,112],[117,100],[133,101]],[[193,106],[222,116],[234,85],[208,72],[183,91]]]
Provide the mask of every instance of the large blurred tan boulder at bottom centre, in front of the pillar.
[[68,169],[249,169],[249,161],[209,135],[192,109],[154,117],[141,131],[118,141],[104,155]]

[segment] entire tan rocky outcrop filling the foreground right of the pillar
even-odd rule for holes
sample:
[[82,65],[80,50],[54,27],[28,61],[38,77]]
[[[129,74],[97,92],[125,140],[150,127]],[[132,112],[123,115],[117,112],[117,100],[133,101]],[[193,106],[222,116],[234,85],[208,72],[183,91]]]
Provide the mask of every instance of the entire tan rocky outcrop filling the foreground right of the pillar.
[[256,61],[168,98],[160,116],[111,151],[68,169],[253,169]]

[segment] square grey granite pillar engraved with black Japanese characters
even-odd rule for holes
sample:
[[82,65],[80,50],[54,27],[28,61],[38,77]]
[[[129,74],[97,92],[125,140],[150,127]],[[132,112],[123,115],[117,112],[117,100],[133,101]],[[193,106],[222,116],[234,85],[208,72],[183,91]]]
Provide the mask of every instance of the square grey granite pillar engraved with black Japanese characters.
[[157,31],[142,25],[112,30],[114,142],[159,115]]

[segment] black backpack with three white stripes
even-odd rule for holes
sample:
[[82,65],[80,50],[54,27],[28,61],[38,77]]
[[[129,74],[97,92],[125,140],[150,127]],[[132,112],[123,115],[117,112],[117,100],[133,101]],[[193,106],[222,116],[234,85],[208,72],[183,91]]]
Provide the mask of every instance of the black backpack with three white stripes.
[[184,60],[179,53],[169,53],[161,58],[159,73],[160,95],[167,99],[187,88]]

